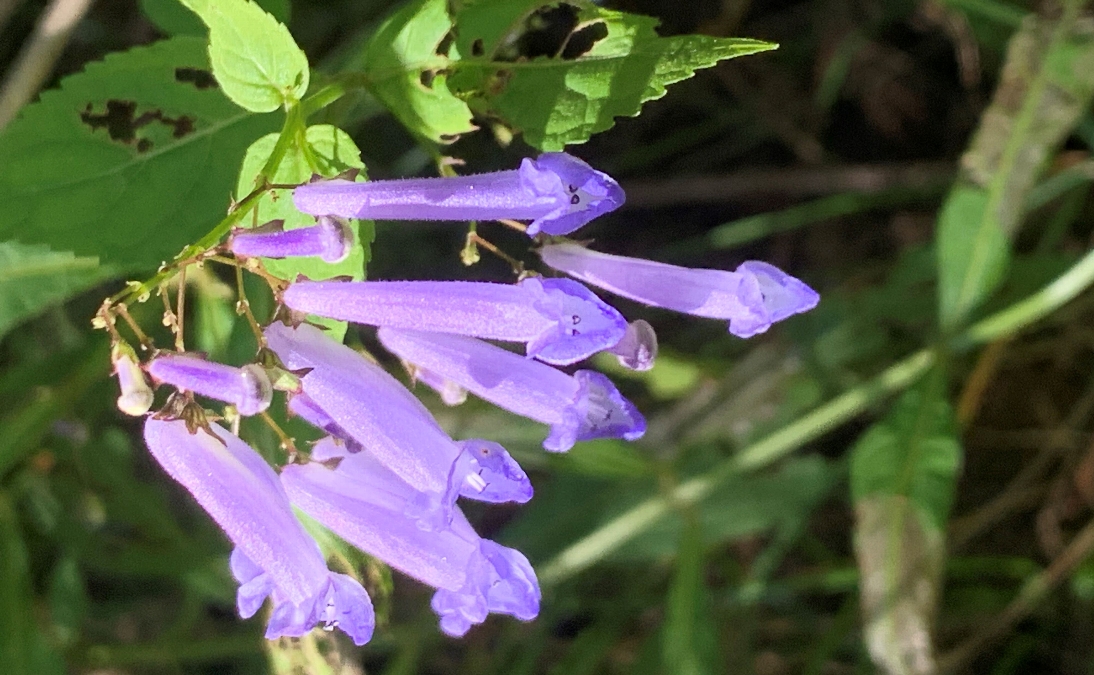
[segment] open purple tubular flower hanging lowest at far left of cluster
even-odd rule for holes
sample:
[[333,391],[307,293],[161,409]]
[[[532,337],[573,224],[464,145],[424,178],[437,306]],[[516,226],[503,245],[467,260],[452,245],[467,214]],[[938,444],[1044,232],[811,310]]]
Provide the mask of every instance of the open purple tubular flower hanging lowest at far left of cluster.
[[156,462],[194,496],[235,545],[240,616],[251,618],[267,597],[274,612],[266,637],[300,637],[318,624],[338,627],[356,644],[372,637],[368,593],[327,569],[318,545],[292,514],[277,474],[246,443],[218,424],[191,434],[183,420],[144,422]]

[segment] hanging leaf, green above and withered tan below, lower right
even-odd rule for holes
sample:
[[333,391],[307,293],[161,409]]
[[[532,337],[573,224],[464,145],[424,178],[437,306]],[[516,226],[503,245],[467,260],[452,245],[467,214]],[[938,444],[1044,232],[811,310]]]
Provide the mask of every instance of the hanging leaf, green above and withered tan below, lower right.
[[851,449],[866,645],[894,675],[935,672],[933,617],[962,455],[955,429],[935,371]]

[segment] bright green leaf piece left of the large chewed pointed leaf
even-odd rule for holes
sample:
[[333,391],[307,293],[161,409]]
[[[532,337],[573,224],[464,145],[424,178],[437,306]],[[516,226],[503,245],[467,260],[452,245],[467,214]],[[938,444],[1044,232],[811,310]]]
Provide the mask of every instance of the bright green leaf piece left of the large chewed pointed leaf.
[[410,132],[435,142],[476,128],[442,72],[449,58],[438,46],[451,30],[446,0],[417,0],[385,21],[365,47],[370,91]]

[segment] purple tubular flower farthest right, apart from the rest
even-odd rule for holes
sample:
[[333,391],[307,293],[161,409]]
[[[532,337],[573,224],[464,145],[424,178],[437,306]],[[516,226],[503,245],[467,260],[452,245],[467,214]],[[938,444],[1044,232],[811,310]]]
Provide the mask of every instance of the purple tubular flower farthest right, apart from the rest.
[[730,333],[752,337],[816,306],[821,296],[773,265],[750,260],[736,271],[689,269],[614,256],[577,244],[539,249],[555,269],[617,295],[685,314],[730,321]]

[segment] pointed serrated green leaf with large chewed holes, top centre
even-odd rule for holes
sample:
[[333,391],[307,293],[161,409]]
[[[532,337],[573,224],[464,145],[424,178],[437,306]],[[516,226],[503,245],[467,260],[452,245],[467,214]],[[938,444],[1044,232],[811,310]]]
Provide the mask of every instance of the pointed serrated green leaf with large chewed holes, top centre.
[[505,60],[502,47],[523,26],[514,20],[551,3],[525,2],[523,14],[509,4],[484,0],[456,14],[462,60],[453,65],[447,83],[476,112],[502,119],[540,150],[585,142],[616,117],[638,115],[643,103],[664,96],[667,85],[696,70],[776,48],[745,38],[660,37],[655,19],[573,2],[580,8],[574,35],[581,35],[571,38],[574,44],[592,38],[590,49],[572,58],[563,49],[554,57]]

